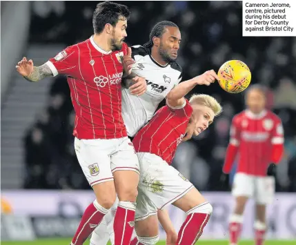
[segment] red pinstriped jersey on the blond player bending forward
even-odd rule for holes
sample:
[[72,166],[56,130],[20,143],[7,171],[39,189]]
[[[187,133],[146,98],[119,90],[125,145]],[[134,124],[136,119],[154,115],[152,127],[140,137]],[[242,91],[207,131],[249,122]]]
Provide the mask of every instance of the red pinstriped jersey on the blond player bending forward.
[[171,164],[192,112],[193,108],[187,99],[179,108],[168,105],[160,108],[132,140],[136,152],[158,155]]

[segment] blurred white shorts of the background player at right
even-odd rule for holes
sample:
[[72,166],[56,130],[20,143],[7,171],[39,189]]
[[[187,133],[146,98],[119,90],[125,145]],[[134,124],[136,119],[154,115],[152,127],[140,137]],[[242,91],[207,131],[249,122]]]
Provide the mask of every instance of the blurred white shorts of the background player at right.
[[235,197],[253,197],[257,204],[271,204],[275,195],[275,178],[237,173],[232,193]]

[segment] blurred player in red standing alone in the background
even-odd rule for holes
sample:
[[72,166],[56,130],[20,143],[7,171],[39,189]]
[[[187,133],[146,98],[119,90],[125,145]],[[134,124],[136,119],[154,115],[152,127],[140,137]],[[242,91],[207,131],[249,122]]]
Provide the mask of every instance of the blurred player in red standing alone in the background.
[[243,213],[248,198],[256,202],[255,244],[264,243],[266,205],[273,202],[275,179],[266,176],[270,164],[278,164],[284,152],[282,121],[265,109],[264,88],[251,86],[246,93],[246,110],[233,117],[224,173],[230,173],[237,154],[239,161],[233,182],[235,210],[230,217],[230,244],[236,245],[241,233]]

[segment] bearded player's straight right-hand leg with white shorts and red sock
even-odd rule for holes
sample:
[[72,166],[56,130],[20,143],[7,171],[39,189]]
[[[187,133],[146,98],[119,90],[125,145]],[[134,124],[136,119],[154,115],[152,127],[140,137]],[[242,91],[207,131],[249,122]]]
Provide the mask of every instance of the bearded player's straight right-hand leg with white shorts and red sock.
[[114,219],[115,245],[128,245],[134,231],[139,160],[128,137],[122,138],[116,153],[111,155],[119,204]]

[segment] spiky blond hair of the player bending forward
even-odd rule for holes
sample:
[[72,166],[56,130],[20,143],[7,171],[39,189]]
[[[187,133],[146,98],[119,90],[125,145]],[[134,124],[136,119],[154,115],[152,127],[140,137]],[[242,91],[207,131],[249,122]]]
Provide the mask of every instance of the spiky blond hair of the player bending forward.
[[202,106],[206,106],[213,110],[215,117],[219,116],[222,112],[222,106],[219,104],[219,102],[210,95],[192,95],[189,100],[190,104],[199,104]]

